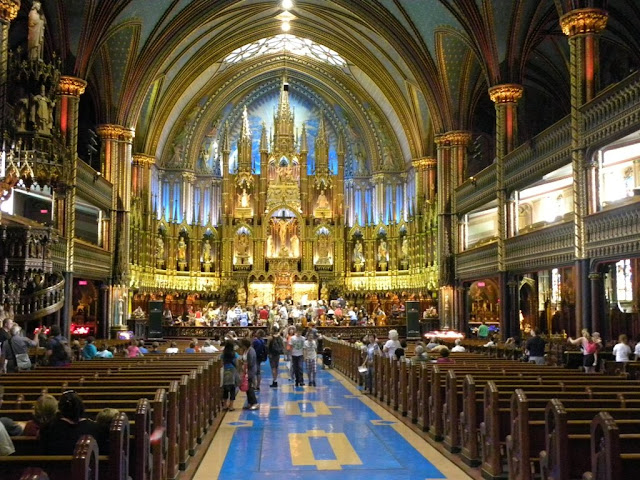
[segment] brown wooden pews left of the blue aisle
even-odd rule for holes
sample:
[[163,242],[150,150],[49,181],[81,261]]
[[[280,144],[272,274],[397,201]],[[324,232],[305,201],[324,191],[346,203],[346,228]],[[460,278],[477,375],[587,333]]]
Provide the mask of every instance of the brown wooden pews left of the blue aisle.
[[16,453],[0,460],[0,478],[46,478],[38,467],[50,480],[175,479],[221,414],[220,368],[210,354],[147,355],[3,375],[0,416],[29,420],[41,394],[58,398],[66,390],[80,395],[89,418],[105,407],[120,414],[110,426],[109,455],[90,436],[69,456],[41,455],[37,438],[12,437]]

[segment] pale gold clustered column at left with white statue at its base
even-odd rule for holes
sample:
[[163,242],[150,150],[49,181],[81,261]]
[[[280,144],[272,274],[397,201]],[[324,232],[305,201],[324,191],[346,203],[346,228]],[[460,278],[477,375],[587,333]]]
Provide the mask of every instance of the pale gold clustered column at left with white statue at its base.
[[126,329],[129,312],[129,215],[131,208],[131,163],[133,129],[120,125],[100,125],[101,160],[105,179],[113,185],[111,195],[110,246],[112,253],[109,315],[111,332]]

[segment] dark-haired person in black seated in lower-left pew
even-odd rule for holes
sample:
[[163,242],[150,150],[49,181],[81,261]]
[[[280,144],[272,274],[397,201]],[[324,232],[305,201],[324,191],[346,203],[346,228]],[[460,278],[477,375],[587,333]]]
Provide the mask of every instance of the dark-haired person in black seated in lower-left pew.
[[100,426],[85,417],[82,399],[67,390],[58,402],[56,418],[40,430],[40,449],[43,455],[73,455],[82,435],[99,439],[101,434]]

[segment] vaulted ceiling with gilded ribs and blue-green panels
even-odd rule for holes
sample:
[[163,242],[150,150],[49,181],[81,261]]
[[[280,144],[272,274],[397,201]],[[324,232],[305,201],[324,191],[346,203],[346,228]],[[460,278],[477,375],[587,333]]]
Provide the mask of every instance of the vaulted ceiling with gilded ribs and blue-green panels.
[[[13,46],[26,38],[31,2],[22,3]],[[293,57],[283,65],[271,54],[230,68],[222,60],[233,50],[282,33],[280,1],[42,3],[48,54],[62,57],[63,73],[89,82],[85,120],[135,128],[136,151],[154,155],[165,153],[195,106],[216,95],[222,108],[284,67],[362,128],[367,110],[382,116],[406,161],[432,153],[437,133],[491,135],[487,88],[500,83],[525,86],[522,131],[530,136],[569,110],[568,42],[558,19],[572,8],[610,12],[605,83],[640,65],[637,0],[298,0],[289,33],[337,52],[347,66]]]

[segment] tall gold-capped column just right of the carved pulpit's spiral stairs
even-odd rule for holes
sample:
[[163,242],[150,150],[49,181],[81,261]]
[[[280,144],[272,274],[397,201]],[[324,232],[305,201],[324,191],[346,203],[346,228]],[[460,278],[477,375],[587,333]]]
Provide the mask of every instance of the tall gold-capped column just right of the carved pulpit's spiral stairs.
[[57,89],[57,124],[62,133],[62,142],[69,149],[72,155],[69,178],[64,191],[59,191],[56,197],[56,223],[66,243],[66,258],[64,271],[65,279],[65,302],[62,307],[63,332],[69,333],[71,327],[71,314],[73,298],[73,270],[75,257],[75,222],[76,222],[76,175],[77,175],[77,154],[78,154],[78,106],[80,95],[87,86],[87,82],[81,78],[62,76]]

